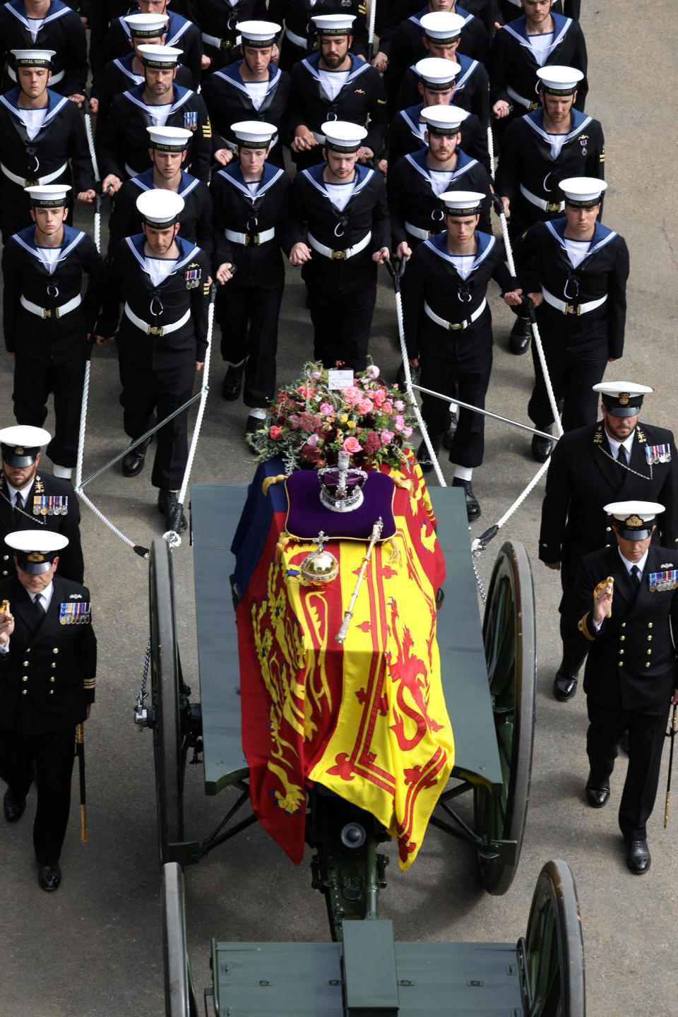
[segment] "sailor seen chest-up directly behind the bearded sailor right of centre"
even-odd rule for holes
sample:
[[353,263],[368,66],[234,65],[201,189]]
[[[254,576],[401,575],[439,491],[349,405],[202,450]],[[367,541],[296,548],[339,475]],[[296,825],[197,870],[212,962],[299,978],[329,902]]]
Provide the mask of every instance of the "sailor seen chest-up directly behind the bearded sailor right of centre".
[[[424,132],[426,121],[422,110],[428,106],[454,106],[461,110],[452,100],[454,98],[454,81],[460,67],[454,60],[441,60],[439,57],[425,57],[416,64],[419,81],[420,99],[423,102],[398,110],[388,128],[388,162],[382,160],[379,169],[386,172],[388,166],[396,159],[409,153],[421,152],[426,147]],[[490,156],[487,149],[487,131],[484,129],[475,113],[461,110],[464,114],[459,122],[459,147],[472,159],[482,163],[490,172]]]

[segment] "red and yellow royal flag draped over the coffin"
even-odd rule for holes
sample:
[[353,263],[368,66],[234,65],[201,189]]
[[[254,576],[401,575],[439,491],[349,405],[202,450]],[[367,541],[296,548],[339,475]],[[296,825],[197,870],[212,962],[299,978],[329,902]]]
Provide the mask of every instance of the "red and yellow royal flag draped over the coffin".
[[263,513],[261,553],[238,580],[243,747],[254,810],[295,862],[306,788],[317,782],[374,815],[407,869],[454,762],[435,638],[444,580],[435,519],[419,467],[388,472],[403,485],[397,532],[373,550],[344,644],[335,637],[367,542],[329,541],[338,577],[312,588],[300,565],[316,545],[286,539],[282,485],[264,497],[261,468],[243,514],[251,533]]

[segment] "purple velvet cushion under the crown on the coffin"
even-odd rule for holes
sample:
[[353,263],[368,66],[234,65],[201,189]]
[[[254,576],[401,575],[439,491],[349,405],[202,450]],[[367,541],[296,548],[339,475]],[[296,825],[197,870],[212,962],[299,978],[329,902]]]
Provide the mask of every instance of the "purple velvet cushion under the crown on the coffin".
[[320,530],[330,540],[369,540],[379,516],[383,520],[381,539],[395,533],[393,494],[395,484],[385,473],[367,475],[363,503],[353,512],[332,512],[320,502],[320,480],[315,470],[298,470],[285,481],[288,518],[285,529],[300,540],[312,540]]

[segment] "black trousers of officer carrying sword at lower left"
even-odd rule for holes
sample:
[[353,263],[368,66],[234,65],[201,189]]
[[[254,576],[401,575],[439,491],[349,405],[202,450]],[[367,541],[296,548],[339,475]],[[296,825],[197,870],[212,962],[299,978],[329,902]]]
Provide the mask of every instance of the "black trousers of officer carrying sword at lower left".
[[40,865],[59,860],[70,812],[70,785],[75,752],[75,730],[20,735],[2,731],[2,775],[10,796],[20,801],[33,782],[34,765],[38,807],[33,843]]

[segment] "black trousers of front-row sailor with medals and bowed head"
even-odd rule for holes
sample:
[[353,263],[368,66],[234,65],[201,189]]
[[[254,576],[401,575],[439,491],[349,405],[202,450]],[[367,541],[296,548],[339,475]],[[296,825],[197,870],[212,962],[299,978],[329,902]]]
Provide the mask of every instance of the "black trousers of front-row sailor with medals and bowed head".
[[[123,426],[130,438],[138,438],[152,427],[153,412],[159,420],[164,420],[193,394],[194,360],[153,371],[130,362],[121,351],[119,370]],[[188,410],[161,427],[157,436],[150,482],[161,490],[178,491],[188,460]]]

